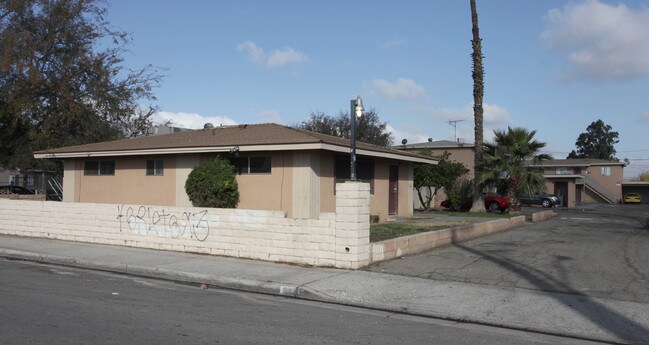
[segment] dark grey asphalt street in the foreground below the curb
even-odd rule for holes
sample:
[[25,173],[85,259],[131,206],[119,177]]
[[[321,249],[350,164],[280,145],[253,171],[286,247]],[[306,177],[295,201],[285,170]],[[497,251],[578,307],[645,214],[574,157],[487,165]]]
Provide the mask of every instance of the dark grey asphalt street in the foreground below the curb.
[[588,344],[466,323],[0,260],[3,344]]

